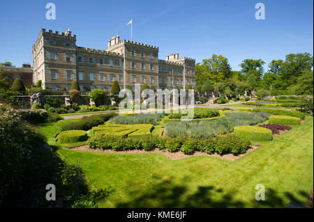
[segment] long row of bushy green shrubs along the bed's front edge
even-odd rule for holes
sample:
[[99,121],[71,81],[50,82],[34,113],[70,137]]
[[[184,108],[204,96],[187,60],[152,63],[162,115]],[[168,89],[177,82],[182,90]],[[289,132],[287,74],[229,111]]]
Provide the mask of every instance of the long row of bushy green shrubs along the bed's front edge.
[[168,150],[169,152],[182,151],[193,154],[195,151],[212,154],[242,154],[248,149],[251,142],[234,134],[225,134],[207,139],[168,138],[161,136],[137,136],[120,138],[106,134],[96,134],[89,139],[89,148],[102,150]]

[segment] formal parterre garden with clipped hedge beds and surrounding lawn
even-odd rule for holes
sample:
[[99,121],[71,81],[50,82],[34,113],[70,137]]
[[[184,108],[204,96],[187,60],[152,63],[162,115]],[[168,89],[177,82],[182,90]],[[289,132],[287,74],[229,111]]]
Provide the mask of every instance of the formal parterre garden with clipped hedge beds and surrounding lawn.
[[[299,111],[197,108],[99,114],[40,125],[59,154],[78,163],[100,207],[286,207],[313,182],[313,118]],[[306,120],[306,121],[305,121]],[[305,122],[304,122],[305,121]],[[80,150],[79,148],[84,148]],[[167,158],[184,154],[182,159]],[[220,157],[234,156],[231,161]],[[269,192],[255,200],[255,185]]]

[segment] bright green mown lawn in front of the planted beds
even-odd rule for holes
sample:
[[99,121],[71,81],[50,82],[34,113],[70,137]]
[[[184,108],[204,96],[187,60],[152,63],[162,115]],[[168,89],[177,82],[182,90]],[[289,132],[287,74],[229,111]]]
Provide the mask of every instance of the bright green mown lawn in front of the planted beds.
[[[62,122],[63,121],[63,122]],[[42,125],[54,136],[64,122]],[[73,121],[73,120],[72,120]],[[55,143],[53,139],[50,143]],[[80,164],[96,189],[111,187],[100,207],[286,207],[306,203],[313,186],[313,118],[263,142],[237,161],[216,157],[167,159],[162,154],[102,154],[59,148]],[[255,200],[264,184],[265,201]]]

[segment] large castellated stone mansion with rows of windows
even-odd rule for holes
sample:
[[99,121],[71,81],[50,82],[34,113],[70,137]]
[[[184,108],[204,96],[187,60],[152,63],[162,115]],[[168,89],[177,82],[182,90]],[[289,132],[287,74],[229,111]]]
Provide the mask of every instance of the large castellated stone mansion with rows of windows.
[[120,40],[108,40],[103,50],[78,47],[76,35],[42,29],[32,47],[33,84],[41,79],[42,87],[70,90],[77,81],[80,90],[110,90],[114,80],[120,88],[144,84],[150,88],[181,89],[195,85],[195,59],[179,54],[158,58],[158,47]]

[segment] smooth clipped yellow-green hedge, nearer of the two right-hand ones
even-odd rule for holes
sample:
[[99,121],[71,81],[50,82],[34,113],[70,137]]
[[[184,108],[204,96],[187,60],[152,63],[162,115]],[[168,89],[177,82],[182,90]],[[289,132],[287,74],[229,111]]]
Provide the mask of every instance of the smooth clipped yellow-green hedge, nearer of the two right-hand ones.
[[253,126],[234,127],[234,134],[251,141],[271,141],[273,134],[270,129]]

